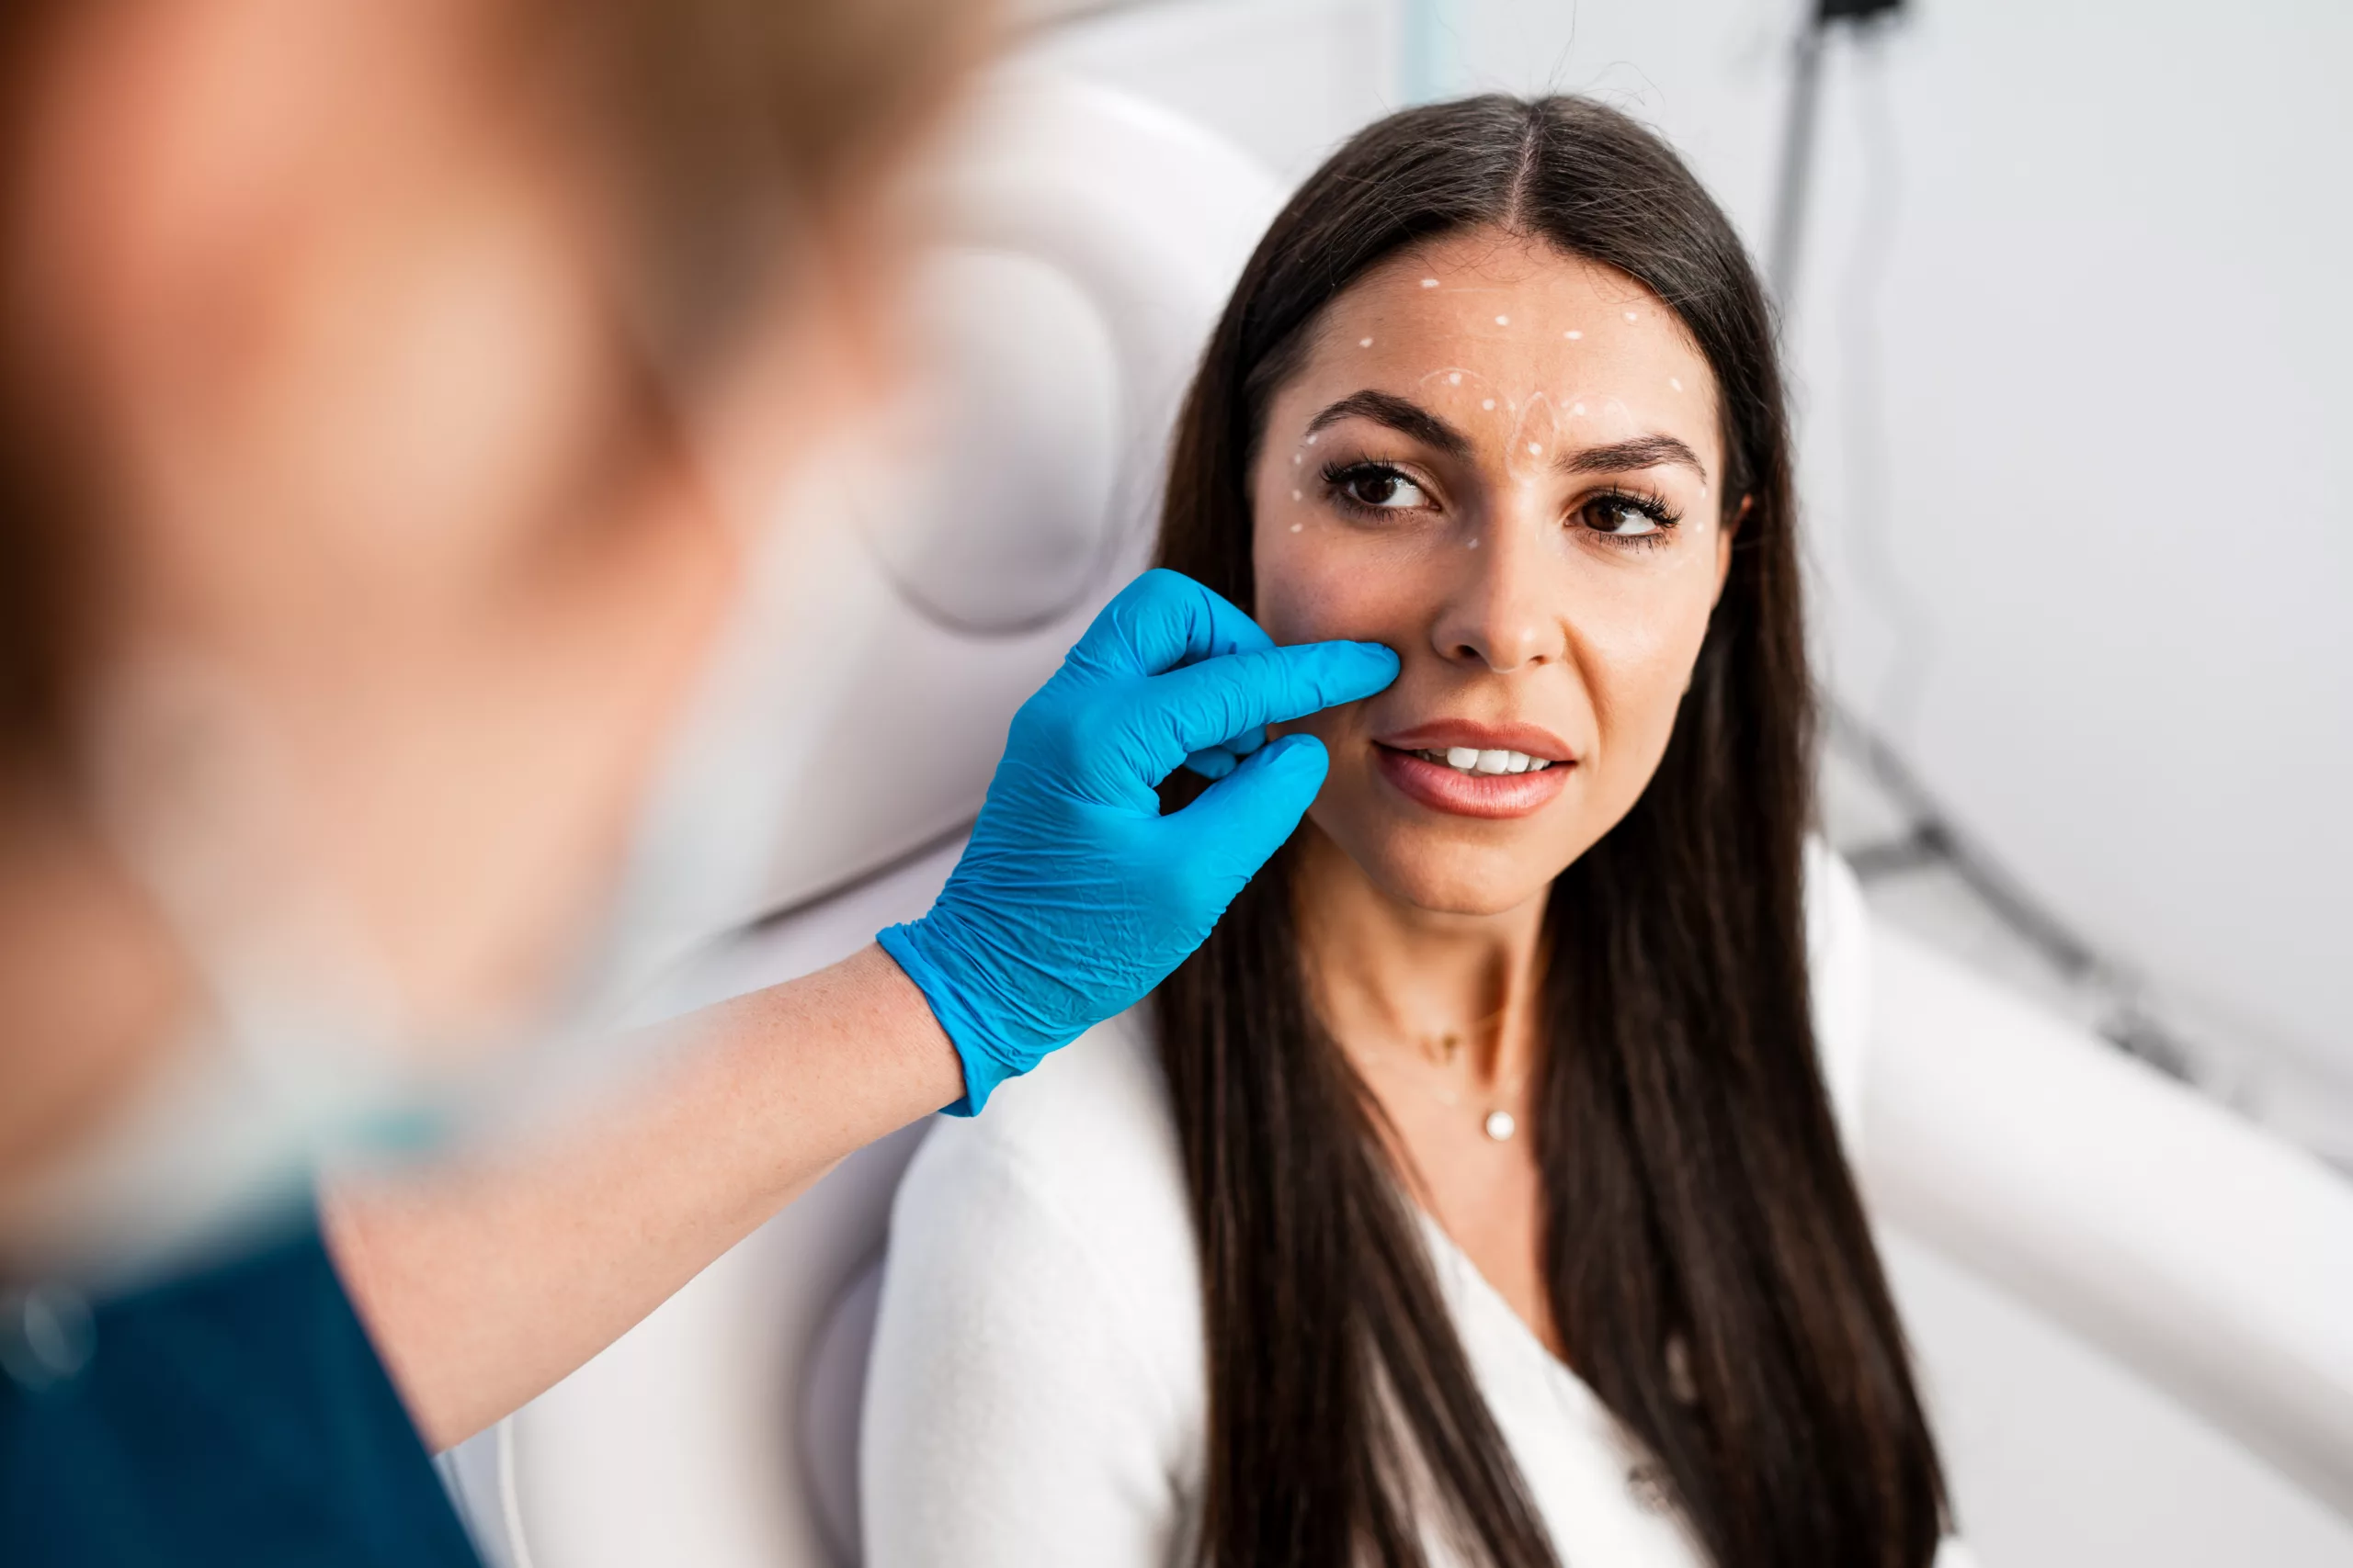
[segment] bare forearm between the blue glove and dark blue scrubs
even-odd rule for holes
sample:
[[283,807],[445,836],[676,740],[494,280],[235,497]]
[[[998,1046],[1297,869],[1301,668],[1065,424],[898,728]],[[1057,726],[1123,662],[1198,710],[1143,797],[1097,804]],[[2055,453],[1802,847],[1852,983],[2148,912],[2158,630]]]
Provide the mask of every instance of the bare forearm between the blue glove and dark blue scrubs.
[[344,1182],[327,1239],[419,1432],[529,1401],[852,1150],[962,1093],[878,947],[671,1025],[661,1065],[492,1161]]

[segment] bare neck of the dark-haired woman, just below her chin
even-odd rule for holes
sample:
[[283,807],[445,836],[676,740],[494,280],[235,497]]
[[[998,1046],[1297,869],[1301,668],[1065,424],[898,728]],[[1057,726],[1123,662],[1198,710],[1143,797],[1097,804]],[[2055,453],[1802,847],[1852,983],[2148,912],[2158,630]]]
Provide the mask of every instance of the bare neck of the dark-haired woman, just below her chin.
[[1501,914],[1447,914],[1386,893],[1313,825],[1297,853],[1301,961],[1351,1058],[1421,1053],[1478,1084],[1532,1077],[1544,893]]

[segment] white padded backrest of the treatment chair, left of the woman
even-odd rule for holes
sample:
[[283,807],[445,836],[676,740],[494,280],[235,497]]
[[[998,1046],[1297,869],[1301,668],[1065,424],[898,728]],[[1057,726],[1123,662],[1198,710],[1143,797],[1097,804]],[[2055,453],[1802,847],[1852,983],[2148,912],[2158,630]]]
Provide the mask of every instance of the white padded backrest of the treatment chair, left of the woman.
[[[788,501],[807,548],[784,562],[791,581],[755,592],[793,630],[748,637],[776,668],[715,698],[744,726],[729,745],[765,738],[805,759],[776,802],[793,832],[744,882],[739,917],[760,924],[704,950],[640,1018],[807,973],[929,907],[1014,708],[1148,562],[1176,402],[1280,200],[1184,120],[1035,71],[1000,73],[953,148],[911,306],[918,395]],[[680,790],[689,809],[699,788],[729,788],[725,750]],[[741,882],[718,865],[654,872],[638,886],[656,926],[666,882]],[[656,947],[713,936],[664,929]],[[878,1262],[922,1131],[845,1161],[602,1356],[445,1455],[485,1559],[854,1563]]]

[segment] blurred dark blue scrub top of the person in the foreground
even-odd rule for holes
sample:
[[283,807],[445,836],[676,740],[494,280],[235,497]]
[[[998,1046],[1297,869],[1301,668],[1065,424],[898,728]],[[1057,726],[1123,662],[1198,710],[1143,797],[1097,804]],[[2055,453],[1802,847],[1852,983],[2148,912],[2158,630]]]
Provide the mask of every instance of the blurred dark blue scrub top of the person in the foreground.
[[475,1568],[315,1218],[80,1328],[59,1375],[0,1375],[7,1568]]

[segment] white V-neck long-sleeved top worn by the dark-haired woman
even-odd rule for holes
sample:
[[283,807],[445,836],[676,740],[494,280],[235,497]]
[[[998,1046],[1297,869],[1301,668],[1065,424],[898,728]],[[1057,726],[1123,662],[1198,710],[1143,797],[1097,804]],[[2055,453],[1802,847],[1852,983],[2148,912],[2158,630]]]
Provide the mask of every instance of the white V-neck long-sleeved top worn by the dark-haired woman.
[[[1868,929],[1809,858],[1817,1039],[1852,1140]],[[1701,1568],[1640,1448],[1428,1218],[1438,1286],[1562,1561]],[[1160,1568],[1200,1516],[1200,1262],[1148,1013],[941,1121],[899,1187],[866,1382],[873,1568]],[[1440,1542],[1431,1559],[1447,1561]],[[1960,1563],[1951,1549],[1939,1568]]]

